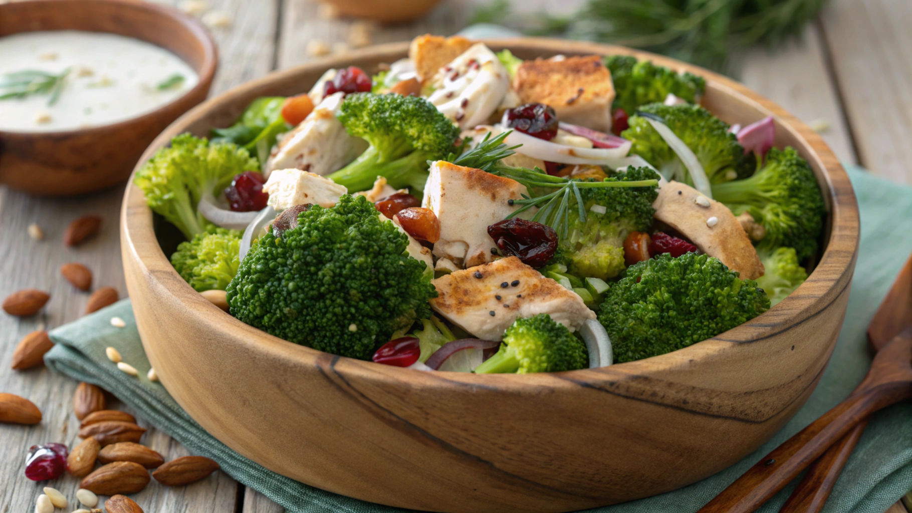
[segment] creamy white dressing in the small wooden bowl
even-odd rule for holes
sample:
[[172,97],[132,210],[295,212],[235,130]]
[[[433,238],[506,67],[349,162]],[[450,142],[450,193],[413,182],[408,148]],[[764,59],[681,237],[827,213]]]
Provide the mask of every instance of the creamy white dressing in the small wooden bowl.
[[[0,130],[53,132],[109,125],[170,103],[199,81],[180,57],[131,37],[67,30],[0,37],[0,84],[10,73],[58,75],[67,68],[54,105],[48,105],[48,94],[0,100]],[[176,85],[160,88],[169,79]],[[6,91],[0,88],[0,95]]]

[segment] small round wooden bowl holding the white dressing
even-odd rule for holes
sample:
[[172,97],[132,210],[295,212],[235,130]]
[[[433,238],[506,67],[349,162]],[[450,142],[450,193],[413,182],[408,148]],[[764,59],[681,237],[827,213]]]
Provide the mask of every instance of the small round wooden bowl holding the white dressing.
[[60,132],[0,130],[0,183],[32,194],[71,196],[126,180],[152,139],[209,95],[218,65],[212,36],[196,20],[132,0],[32,0],[0,5],[0,37],[37,30],[129,36],[171,50],[199,75],[183,96],[148,114]]

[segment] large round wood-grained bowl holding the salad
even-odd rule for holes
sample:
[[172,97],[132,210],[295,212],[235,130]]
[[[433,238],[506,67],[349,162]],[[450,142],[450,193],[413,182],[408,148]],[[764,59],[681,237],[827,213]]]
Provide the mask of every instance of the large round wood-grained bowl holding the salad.
[[[858,248],[852,186],[824,141],[741,84],[617,46],[486,41],[517,56],[634,54],[706,77],[729,122],[776,118],[777,145],[809,160],[829,210],[814,272],[769,312],[671,354],[560,374],[423,373],[321,353],[237,321],[181,280],[142,192],[123,202],[121,244],[143,346],[161,383],[213,436],[287,477],[401,508],[555,512],[683,487],[729,467],[803,405],[845,315]],[[254,97],[307,90],[327,67],[373,71],[378,46],[275,73],[216,97],[156,139],[204,135]]]

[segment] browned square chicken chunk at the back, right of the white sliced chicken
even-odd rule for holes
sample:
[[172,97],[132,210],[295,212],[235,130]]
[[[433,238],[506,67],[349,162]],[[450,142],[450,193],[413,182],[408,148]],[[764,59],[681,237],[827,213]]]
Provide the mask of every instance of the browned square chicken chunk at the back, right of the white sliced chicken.
[[598,56],[527,60],[516,70],[513,89],[523,104],[544,103],[567,123],[607,132],[615,86]]

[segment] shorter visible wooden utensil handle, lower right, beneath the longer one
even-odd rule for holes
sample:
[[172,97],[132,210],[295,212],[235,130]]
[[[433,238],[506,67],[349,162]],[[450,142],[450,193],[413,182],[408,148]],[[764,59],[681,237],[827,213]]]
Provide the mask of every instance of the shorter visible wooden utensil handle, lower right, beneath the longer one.
[[782,505],[779,513],[819,513],[824,508],[826,499],[830,497],[836,480],[843,472],[845,462],[852,455],[866,426],[867,419],[859,422],[848,435],[827,449],[824,456],[807,469],[801,483]]

